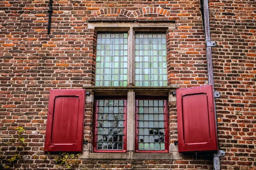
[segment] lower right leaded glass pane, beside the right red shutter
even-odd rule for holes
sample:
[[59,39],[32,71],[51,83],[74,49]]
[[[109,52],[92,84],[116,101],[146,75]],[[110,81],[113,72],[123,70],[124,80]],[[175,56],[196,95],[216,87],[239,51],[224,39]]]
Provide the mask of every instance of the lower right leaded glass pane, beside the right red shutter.
[[137,150],[167,150],[166,100],[137,100]]

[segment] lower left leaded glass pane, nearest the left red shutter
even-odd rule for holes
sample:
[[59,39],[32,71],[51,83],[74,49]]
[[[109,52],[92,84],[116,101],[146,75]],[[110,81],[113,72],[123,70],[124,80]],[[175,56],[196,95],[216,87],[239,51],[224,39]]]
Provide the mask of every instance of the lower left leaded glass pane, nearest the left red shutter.
[[96,101],[96,150],[126,150],[126,100]]

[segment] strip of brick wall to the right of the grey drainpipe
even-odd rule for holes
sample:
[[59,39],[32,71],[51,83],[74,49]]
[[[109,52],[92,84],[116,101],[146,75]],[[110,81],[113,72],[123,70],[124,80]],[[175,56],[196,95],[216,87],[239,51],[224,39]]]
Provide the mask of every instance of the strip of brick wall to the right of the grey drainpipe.
[[[222,169],[256,167],[256,1],[210,0]],[[254,167],[254,168],[253,168]]]

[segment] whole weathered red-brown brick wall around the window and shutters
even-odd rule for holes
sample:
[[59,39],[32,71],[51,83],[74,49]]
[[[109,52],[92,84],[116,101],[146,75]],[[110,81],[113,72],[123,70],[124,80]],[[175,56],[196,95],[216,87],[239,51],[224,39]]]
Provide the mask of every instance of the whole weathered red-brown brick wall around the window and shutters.
[[[47,35],[47,0],[0,1],[0,135],[26,129],[31,153],[44,149],[49,90],[94,84],[96,31],[88,20],[172,20],[167,33],[168,81],[180,88],[207,84],[199,0],[53,0]],[[256,136],[256,3],[210,0],[219,146],[222,169],[251,169]],[[177,140],[175,102],[170,105],[170,142]],[[86,105],[84,137],[91,142],[92,104]],[[33,160],[33,159],[32,159]],[[87,160],[87,169],[211,169],[212,155],[182,160]],[[84,166],[81,164],[80,166]],[[42,167],[50,168],[45,163]]]

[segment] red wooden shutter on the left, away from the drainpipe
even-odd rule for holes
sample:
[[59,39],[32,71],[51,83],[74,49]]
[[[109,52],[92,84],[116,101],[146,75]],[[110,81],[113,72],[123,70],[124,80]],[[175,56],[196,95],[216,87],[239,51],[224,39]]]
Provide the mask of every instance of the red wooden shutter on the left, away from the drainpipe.
[[84,89],[50,91],[45,151],[82,152],[84,104]]

